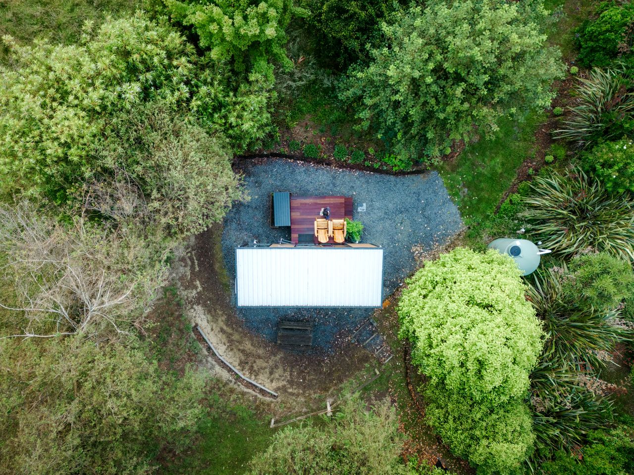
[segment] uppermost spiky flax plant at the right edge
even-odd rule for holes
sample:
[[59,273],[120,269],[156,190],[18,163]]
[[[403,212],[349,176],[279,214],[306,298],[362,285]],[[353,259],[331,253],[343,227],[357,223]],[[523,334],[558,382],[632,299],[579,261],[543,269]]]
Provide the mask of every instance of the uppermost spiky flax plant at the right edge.
[[588,148],[599,139],[620,139],[634,126],[634,92],[630,74],[623,66],[593,68],[587,79],[579,78],[573,106],[556,138],[566,139],[578,148]]

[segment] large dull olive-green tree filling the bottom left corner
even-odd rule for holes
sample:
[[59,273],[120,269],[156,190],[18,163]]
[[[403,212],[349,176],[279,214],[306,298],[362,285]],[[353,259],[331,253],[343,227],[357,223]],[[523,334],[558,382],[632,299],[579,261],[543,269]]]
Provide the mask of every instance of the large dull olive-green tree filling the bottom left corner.
[[134,345],[0,340],[0,472],[146,475],[183,450],[205,379],[176,379]]

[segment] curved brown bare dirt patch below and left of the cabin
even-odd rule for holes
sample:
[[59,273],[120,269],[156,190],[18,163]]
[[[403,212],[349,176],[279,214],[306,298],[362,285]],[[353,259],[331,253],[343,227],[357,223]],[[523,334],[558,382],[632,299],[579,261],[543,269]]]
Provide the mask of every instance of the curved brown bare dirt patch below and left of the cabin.
[[[184,311],[223,358],[245,376],[279,394],[272,403],[272,415],[309,412],[327,397],[334,397],[342,384],[366,365],[375,364],[370,353],[352,344],[342,344],[332,355],[302,355],[282,351],[249,333],[230,304],[221,235],[220,225],[199,234],[179,260]],[[207,358],[207,364],[216,367],[217,376],[235,380],[233,374],[219,370],[211,358]]]

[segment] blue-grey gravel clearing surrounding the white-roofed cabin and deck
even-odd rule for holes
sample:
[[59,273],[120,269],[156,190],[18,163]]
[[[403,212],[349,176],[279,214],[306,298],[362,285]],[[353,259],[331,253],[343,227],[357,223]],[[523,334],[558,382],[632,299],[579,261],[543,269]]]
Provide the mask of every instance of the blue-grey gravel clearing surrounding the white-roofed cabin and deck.
[[[224,219],[223,257],[231,288],[235,279],[235,248],[253,243],[290,239],[290,227],[269,225],[270,194],[290,191],[294,196],[353,197],[353,219],[365,226],[364,243],[384,248],[384,297],[391,295],[415,269],[412,246],[425,250],[445,243],[462,229],[458,208],[436,172],[392,176],[342,170],[292,160],[246,162],[242,167],[250,201],[235,205]],[[358,207],[366,205],[365,212]],[[354,272],[347,269],[346,272]],[[232,295],[235,305],[235,294]],[[344,345],[351,331],[370,317],[368,308],[238,308],[249,331],[275,341],[280,318],[313,322],[315,350],[332,352]]]

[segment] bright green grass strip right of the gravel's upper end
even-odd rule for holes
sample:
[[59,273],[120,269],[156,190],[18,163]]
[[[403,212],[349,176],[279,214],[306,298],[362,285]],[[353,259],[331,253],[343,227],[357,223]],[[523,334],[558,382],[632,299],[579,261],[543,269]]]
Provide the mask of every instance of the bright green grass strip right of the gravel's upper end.
[[523,122],[504,118],[492,140],[468,144],[453,162],[438,172],[467,225],[489,217],[515,179],[515,170],[534,153],[534,131],[545,120],[543,113],[529,113]]

